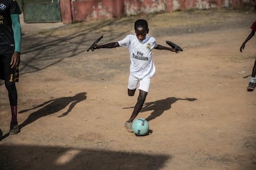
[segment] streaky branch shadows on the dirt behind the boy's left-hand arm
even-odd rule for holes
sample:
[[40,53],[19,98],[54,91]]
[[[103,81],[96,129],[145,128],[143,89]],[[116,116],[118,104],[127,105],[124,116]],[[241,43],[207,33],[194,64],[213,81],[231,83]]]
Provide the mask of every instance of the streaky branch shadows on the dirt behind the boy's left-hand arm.
[[[76,23],[53,30],[40,31],[37,34],[25,34],[22,38],[20,75],[45,70],[69,57],[77,57],[77,55],[86,57],[90,54],[86,52],[88,47],[101,34],[106,36],[108,42],[119,37],[123,38],[127,30],[117,33],[118,28],[111,25],[123,25],[129,23],[129,20],[129,18],[105,20],[90,25]],[[109,29],[106,30],[106,28]],[[62,31],[63,34],[56,34],[56,31]]]

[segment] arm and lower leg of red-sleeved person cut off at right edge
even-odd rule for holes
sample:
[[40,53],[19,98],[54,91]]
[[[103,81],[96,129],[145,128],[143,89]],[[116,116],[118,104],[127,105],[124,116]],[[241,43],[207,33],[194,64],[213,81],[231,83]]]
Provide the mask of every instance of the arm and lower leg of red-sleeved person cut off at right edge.
[[[242,43],[242,46],[240,47],[240,51],[241,52],[244,49],[246,42],[249,41],[254,36],[254,34],[255,34],[255,31],[256,31],[256,20],[254,21],[254,23],[252,23],[252,26],[250,26],[250,28],[252,29],[252,31],[247,36],[245,41]],[[255,75],[256,75],[256,59],[255,59],[255,62],[254,62],[254,67],[252,68],[252,75],[250,76],[250,81],[249,81],[249,84],[248,84],[248,87],[247,87],[247,91],[254,91],[254,88],[255,88]]]

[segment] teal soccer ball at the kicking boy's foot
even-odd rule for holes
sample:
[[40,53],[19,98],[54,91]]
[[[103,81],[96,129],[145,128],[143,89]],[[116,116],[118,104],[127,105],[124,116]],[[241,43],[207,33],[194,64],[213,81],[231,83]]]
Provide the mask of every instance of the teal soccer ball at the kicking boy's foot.
[[132,131],[136,136],[145,136],[148,134],[148,130],[149,125],[146,119],[139,118],[132,123]]

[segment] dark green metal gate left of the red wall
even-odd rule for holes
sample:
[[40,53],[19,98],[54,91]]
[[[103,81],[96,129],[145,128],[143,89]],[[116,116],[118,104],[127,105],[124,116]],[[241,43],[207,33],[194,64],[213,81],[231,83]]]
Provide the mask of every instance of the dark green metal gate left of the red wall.
[[23,0],[25,23],[61,22],[59,0]]

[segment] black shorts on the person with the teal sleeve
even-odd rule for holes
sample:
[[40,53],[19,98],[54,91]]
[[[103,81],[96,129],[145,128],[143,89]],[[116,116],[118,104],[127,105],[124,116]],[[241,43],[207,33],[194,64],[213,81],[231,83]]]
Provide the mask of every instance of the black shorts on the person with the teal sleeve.
[[0,54],[0,79],[9,82],[19,81],[19,67],[11,68],[12,54]]

